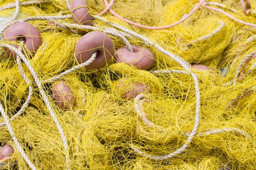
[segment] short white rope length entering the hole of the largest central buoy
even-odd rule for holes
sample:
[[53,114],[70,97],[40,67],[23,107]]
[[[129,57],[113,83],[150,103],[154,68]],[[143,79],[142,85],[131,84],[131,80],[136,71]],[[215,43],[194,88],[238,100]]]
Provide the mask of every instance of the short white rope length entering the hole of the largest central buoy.
[[78,70],[78,69],[80,69],[80,68],[83,68],[83,67],[85,67],[85,66],[90,65],[90,64],[95,60],[96,56],[97,56],[97,51],[95,51],[95,52],[92,54],[91,58],[90,58],[89,60],[87,60],[86,62],[84,62],[84,63],[82,63],[82,64],[80,64],[80,65],[78,65],[78,66],[75,66],[75,67],[73,67],[73,68],[70,68],[70,69],[68,69],[68,70],[66,70],[66,71],[64,71],[64,72],[62,72],[62,73],[59,74],[58,76],[55,76],[55,77],[50,78],[50,79],[48,79],[48,80],[42,80],[41,82],[42,82],[42,83],[45,83],[45,82],[57,81],[57,80],[61,79],[62,77],[64,77],[64,76],[67,75],[67,74],[70,74],[70,73],[72,73],[72,72],[74,72],[74,71],[76,71],[76,70]]

